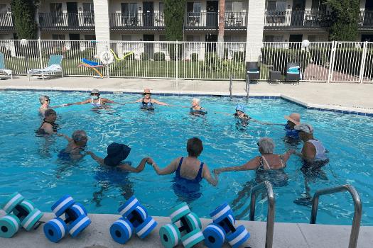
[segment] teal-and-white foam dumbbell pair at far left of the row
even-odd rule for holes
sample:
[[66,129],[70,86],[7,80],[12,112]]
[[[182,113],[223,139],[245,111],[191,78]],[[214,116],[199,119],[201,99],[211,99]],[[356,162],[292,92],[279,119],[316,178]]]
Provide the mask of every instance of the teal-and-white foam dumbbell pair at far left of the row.
[[42,217],[43,213],[31,201],[13,193],[0,210],[0,237],[13,237],[21,226],[30,231]]

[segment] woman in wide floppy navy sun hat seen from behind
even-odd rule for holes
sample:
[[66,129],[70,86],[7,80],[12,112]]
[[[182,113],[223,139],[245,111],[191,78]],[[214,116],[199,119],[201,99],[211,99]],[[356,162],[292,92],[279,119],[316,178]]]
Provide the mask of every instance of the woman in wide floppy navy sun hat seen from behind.
[[90,154],[92,159],[94,159],[97,163],[107,166],[107,167],[115,167],[121,169],[123,171],[129,172],[136,172],[139,173],[144,170],[145,164],[151,164],[151,159],[149,157],[144,157],[141,159],[140,164],[135,168],[131,167],[131,162],[123,161],[128,157],[129,152],[131,152],[131,148],[118,143],[112,143],[107,147],[107,157],[102,159],[98,157],[93,152],[87,151],[86,154]]

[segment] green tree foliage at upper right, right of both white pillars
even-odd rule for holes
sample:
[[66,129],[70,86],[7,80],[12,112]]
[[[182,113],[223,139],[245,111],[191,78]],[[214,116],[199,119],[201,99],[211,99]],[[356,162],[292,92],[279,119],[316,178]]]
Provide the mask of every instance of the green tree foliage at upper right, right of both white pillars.
[[330,40],[355,41],[358,35],[359,0],[323,0],[332,9]]

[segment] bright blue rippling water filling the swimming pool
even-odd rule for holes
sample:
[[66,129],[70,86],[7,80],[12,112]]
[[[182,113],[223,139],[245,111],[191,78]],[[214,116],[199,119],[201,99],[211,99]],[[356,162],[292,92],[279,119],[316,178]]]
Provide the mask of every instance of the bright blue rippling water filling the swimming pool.
[[[14,191],[30,199],[40,210],[50,211],[63,194],[71,194],[86,205],[91,213],[117,213],[125,198],[135,194],[151,215],[168,215],[168,210],[181,200],[173,191],[173,175],[157,176],[151,166],[140,174],[105,171],[90,157],[76,164],[63,164],[57,154],[67,142],[60,137],[36,137],[39,127],[38,96],[48,94],[51,105],[82,101],[87,93],[0,91],[0,203]],[[141,96],[129,94],[103,95],[114,101],[134,101]],[[189,105],[189,96],[153,96],[167,103]],[[200,159],[210,169],[244,164],[259,154],[256,142],[269,136],[276,142],[276,153],[291,148],[283,142],[280,125],[237,125],[232,115],[241,98],[202,97],[205,117],[193,117],[188,108],[158,106],[154,112],[140,111],[137,104],[113,105],[108,111],[92,111],[90,105],[56,108],[60,133],[71,135],[74,130],[87,131],[88,150],[101,157],[111,142],[123,142],[131,147],[127,158],[137,165],[150,156],[165,167],[175,157],[186,156],[186,140],[200,137],[204,151]],[[315,137],[330,151],[330,164],[324,167],[327,179],[310,181],[311,193],[320,188],[352,184],[359,191],[363,204],[362,225],[373,225],[373,119],[360,115],[307,110],[281,99],[250,99],[249,115],[271,123],[286,123],[283,115],[299,112],[302,120],[315,127]],[[299,150],[301,144],[296,146]],[[286,167],[288,184],[274,188],[276,222],[309,222],[310,208],[293,201],[304,192],[301,160],[291,157]],[[202,196],[190,203],[190,208],[207,217],[220,203],[238,202],[236,214],[248,219],[249,182],[254,171],[220,174],[217,187],[202,181]],[[257,203],[258,220],[266,219],[266,200]],[[348,193],[320,198],[318,222],[350,225],[353,204]]]

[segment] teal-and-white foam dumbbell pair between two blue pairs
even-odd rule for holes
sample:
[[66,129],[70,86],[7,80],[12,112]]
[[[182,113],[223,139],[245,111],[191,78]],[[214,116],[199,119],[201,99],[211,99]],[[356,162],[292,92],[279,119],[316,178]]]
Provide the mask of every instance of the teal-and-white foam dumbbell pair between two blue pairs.
[[200,218],[190,212],[187,203],[172,208],[170,218],[172,223],[159,230],[163,247],[173,248],[182,242],[185,248],[190,248],[203,241]]

